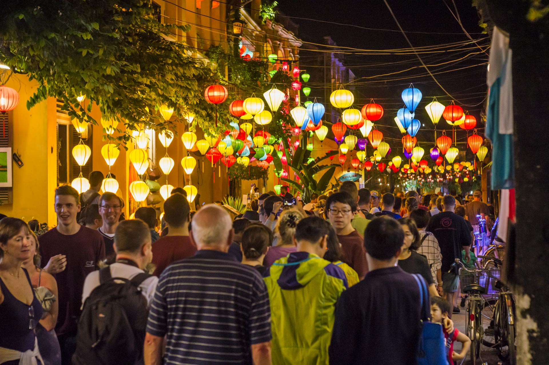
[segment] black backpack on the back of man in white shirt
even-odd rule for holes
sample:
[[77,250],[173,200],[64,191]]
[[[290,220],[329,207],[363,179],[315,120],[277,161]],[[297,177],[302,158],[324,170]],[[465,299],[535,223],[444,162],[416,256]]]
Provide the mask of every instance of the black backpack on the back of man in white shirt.
[[131,280],[113,278],[110,267],[99,270],[100,284],[84,302],[78,322],[73,364],[142,362],[148,309],[139,285],[150,277],[139,273]]

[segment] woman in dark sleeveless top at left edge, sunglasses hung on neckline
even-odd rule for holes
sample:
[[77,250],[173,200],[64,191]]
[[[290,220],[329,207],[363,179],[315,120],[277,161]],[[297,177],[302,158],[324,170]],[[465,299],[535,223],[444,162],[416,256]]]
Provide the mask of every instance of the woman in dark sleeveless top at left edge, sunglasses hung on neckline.
[[0,364],[43,364],[36,324],[42,318],[42,306],[32,289],[29,272],[21,265],[32,259],[34,236],[24,221],[3,218],[0,221]]

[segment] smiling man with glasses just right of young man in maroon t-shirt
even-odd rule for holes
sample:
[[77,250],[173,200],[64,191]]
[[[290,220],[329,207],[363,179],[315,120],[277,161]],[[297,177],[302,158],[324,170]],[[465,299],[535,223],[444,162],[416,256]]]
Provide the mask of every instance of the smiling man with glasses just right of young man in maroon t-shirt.
[[122,199],[114,193],[103,193],[99,199],[99,214],[103,218],[103,226],[97,228],[97,231],[103,236],[108,263],[113,263],[115,259],[114,232],[118,227],[123,206]]

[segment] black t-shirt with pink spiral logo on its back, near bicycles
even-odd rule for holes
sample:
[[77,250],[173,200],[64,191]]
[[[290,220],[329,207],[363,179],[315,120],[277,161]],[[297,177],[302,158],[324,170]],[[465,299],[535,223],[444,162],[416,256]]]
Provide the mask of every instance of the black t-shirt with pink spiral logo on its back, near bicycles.
[[448,271],[455,259],[461,259],[462,246],[470,246],[471,234],[465,220],[454,212],[440,212],[431,217],[425,231],[433,233],[442,254],[442,272]]

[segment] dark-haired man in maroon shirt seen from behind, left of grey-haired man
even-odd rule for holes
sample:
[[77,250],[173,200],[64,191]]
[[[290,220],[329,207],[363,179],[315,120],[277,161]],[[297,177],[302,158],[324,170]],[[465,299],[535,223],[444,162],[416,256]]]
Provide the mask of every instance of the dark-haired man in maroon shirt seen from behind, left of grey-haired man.
[[154,275],[160,277],[173,262],[187,259],[197,252],[189,239],[189,213],[191,206],[181,194],[173,194],[164,202],[164,222],[168,233],[153,243]]

